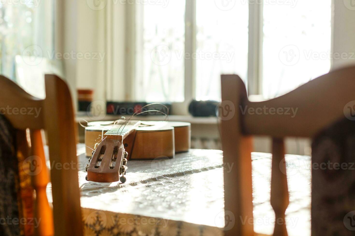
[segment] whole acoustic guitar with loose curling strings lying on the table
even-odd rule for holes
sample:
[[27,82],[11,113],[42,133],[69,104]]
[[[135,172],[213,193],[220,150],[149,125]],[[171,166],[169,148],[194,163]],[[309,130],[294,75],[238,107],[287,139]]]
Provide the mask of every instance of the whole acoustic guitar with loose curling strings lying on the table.
[[[126,182],[128,160],[173,158],[191,146],[191,124],[170,121],[98,121],[85,128],[87,180]],[[92,151],[94,150],[94,151]],[[122,176],[121,176],[122,175]],[[120,177],[121,176],[121,177]]]

